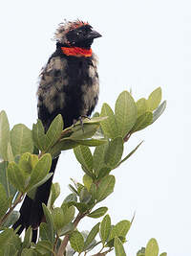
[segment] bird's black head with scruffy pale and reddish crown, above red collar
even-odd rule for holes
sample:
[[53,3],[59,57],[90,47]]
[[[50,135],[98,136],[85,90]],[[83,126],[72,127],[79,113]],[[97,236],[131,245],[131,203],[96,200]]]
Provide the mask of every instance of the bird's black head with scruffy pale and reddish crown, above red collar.
[[88,22],[80,20],[61,23],[55,33],[56,41],[63,46],[84,49],[90,49],[94,39],[100,36]]

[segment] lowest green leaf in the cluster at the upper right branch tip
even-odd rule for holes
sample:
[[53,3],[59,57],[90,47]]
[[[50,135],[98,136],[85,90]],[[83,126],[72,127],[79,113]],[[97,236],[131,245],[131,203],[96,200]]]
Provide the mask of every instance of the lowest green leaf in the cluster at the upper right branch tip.
[[153,113],[148,111],[145,112],[144,114],[138,117],[138,120],[135,126],[131,130],[131,133],[148,127],[149,125],[152,124],[152,121],[153,121]]

